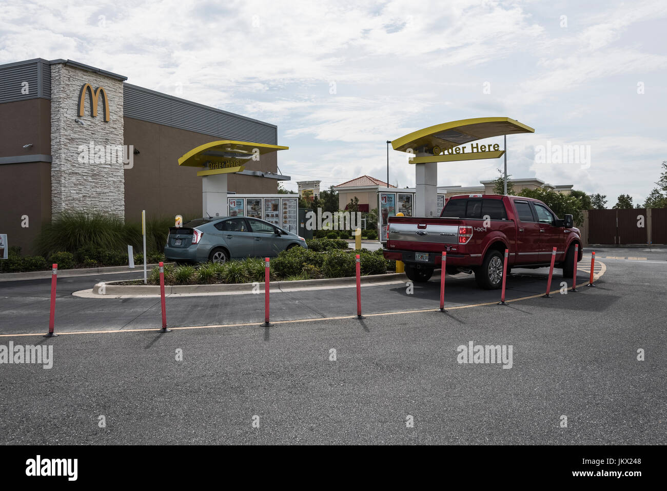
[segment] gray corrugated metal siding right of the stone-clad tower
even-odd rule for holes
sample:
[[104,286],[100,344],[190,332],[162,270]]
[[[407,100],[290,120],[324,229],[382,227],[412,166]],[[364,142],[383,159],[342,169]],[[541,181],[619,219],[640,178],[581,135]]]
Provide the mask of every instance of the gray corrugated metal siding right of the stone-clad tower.
[[125,83],[123,116],[223,139],[277,145],[277,127]]

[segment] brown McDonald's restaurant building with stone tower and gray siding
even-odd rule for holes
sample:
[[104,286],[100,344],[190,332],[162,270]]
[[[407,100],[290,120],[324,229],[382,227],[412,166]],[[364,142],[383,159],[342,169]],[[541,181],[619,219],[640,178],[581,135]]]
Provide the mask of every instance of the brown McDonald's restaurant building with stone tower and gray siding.
[[[277,145],[275,125],[126,80],[64,59],[0,65],[0,233],[9,246],[32,252],[41,225],[65,210],[201,216],[202,178],[179,157],[217,140]],[[276,193],[289,179],[276,155],[247,160],[225,191]]]

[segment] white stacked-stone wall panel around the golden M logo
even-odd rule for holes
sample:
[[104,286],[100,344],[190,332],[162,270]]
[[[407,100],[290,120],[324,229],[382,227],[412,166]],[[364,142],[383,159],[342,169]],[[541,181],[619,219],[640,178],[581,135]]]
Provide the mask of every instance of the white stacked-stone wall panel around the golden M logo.
[[[103,98],[93,117],[89,96],[78,114],[83,84],[104,87],[109,98],[109,122],[104,121]],[[75,119],[81,119],[84,126]],[[99,211],[125,216],[123,163],[79,162],[79,146],[123,145],[123,82],[91,71],[51,65],[51,207],[61,211]]]

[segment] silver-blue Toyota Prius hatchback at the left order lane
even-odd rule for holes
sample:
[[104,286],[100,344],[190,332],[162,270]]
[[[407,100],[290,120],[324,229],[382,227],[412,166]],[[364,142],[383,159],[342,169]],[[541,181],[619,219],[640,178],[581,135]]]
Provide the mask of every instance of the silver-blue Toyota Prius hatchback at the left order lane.
[[249,217],[199,218],[170,227],[167,261],[223,263],[230,259],[272,258],[305,239],[267,221]]

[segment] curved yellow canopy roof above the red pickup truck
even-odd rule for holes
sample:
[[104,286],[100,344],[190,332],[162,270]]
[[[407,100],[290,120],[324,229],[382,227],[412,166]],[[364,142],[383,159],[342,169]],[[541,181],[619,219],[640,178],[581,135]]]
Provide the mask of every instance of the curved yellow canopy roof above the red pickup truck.
[[413,131],[392,141],[392,147],[398,151],[419,147],[446,149],[483,138],[516,133],[535,133],[535,130],[510,117],[473,117]]

